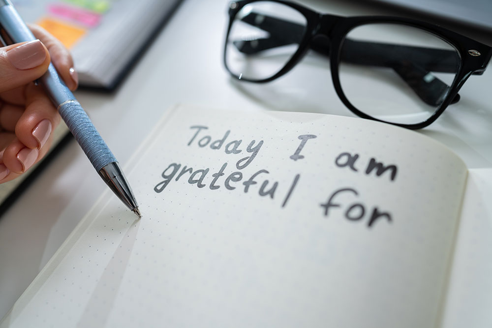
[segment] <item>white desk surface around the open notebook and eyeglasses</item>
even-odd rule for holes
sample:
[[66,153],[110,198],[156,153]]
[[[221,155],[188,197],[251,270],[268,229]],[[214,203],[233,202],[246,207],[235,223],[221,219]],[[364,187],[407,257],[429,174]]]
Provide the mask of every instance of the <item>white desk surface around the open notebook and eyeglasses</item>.
[[[341,15],[401,14],[359,2],[304,2]],[[185,0],[116,92],[76,92],[123,165],[154,122],[176,103],[352,116],[338,100],[328,71],[307,76],[294,69],[266,85],[230,79],[222,65],[227,3]],[[471,35],[492,44],[485,33]],[[453,149],[470,168],[492,167],[491,85],[492,68],[472,76],[460,92],[460,102],[420,133]],[[0,218],[0,318],[105,189],[72,142]]]

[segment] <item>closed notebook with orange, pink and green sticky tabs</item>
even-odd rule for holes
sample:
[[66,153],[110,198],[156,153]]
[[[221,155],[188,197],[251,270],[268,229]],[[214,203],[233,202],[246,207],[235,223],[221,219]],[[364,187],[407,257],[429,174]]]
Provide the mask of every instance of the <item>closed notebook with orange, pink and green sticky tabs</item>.
[[114,89],[181,0],[13,0],[72,53],[81,87]]

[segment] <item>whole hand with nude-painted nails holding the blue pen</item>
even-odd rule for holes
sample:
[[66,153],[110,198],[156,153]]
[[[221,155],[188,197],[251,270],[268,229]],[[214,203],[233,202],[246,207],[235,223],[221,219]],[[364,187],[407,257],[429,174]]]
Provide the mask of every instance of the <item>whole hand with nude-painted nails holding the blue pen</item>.
[[50,60],[70,90],[77,89],[73,60],[62,43],[31,25],[36,41],[0,48],[0,183],[26,172],[48,152],[60,115],[33,81]]

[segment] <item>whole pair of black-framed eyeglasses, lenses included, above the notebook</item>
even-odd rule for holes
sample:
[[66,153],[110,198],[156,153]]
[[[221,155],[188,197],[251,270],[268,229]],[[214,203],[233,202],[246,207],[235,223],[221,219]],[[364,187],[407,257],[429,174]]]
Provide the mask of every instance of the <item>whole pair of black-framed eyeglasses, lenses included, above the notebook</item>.
[[330,57],[338,97],[354,114],[411,129],[431,124],[492,48],[410,19],[320,14],[281,0],[229,4],[224,64],[232,76],[269,82],[311,50]]

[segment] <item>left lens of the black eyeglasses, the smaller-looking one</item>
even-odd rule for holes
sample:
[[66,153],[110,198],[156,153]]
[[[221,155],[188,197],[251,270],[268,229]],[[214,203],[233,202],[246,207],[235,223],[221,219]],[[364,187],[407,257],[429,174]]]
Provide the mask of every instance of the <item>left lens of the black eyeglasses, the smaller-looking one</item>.
[[237,13],[229,31],[227,67],[243,79],[272,77],[297,51],[306,26],[306,17],[287,5],[271,1],[247,4]]

